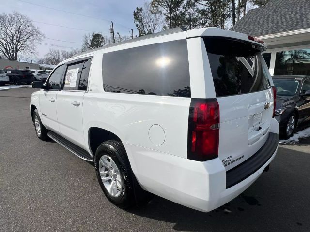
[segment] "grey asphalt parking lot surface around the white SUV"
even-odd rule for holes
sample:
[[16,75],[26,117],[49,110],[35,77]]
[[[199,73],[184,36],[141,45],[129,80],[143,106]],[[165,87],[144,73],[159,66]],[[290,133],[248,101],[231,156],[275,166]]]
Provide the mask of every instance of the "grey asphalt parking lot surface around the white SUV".
[[94,167],[37,139],[31,87],[0,91],[0,231],[310,231],[310,146],[279,147],[244,193],[202,213],[155,197],[122,210],[105,198]]

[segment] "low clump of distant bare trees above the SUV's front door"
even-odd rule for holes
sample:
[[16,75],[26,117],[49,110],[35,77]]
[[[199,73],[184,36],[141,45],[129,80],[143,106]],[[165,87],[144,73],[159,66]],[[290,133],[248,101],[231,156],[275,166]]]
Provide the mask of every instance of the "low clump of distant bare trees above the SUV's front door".
[[71,58],[72,56],[78,54],[78,52],[78,49],[74,49],[72,51],[49,49],[49,52],[44,55],[44,58],[39,59],[38,63],[57,65],[62,60]]

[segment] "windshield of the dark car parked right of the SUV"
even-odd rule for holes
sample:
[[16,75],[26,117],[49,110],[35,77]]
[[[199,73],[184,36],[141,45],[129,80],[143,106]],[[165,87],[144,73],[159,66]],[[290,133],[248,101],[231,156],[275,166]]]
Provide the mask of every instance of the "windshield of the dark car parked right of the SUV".
[[273,84],[277,88],[277,95],[279,96],[292,96],[296,95],[299,81],[296,80],[285,80],[285,79],[274,79]]

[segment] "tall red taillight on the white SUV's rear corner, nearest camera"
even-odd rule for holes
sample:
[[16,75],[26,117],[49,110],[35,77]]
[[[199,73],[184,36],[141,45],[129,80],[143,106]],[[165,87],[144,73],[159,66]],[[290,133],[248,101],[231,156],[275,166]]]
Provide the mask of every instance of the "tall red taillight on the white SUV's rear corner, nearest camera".
[[187,158],[205,161],[217,158],[219,106],[216,98],[192,98],[188,116]]

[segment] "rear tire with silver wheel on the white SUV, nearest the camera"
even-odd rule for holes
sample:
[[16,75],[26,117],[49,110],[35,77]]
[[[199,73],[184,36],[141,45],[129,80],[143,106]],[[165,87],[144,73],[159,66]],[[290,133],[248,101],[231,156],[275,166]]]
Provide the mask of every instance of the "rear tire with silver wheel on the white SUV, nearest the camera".
[[123,144],[116,140],[103,142],[95,154],[96,175],[109,201],[120,208],[134,203],[131,167]]

